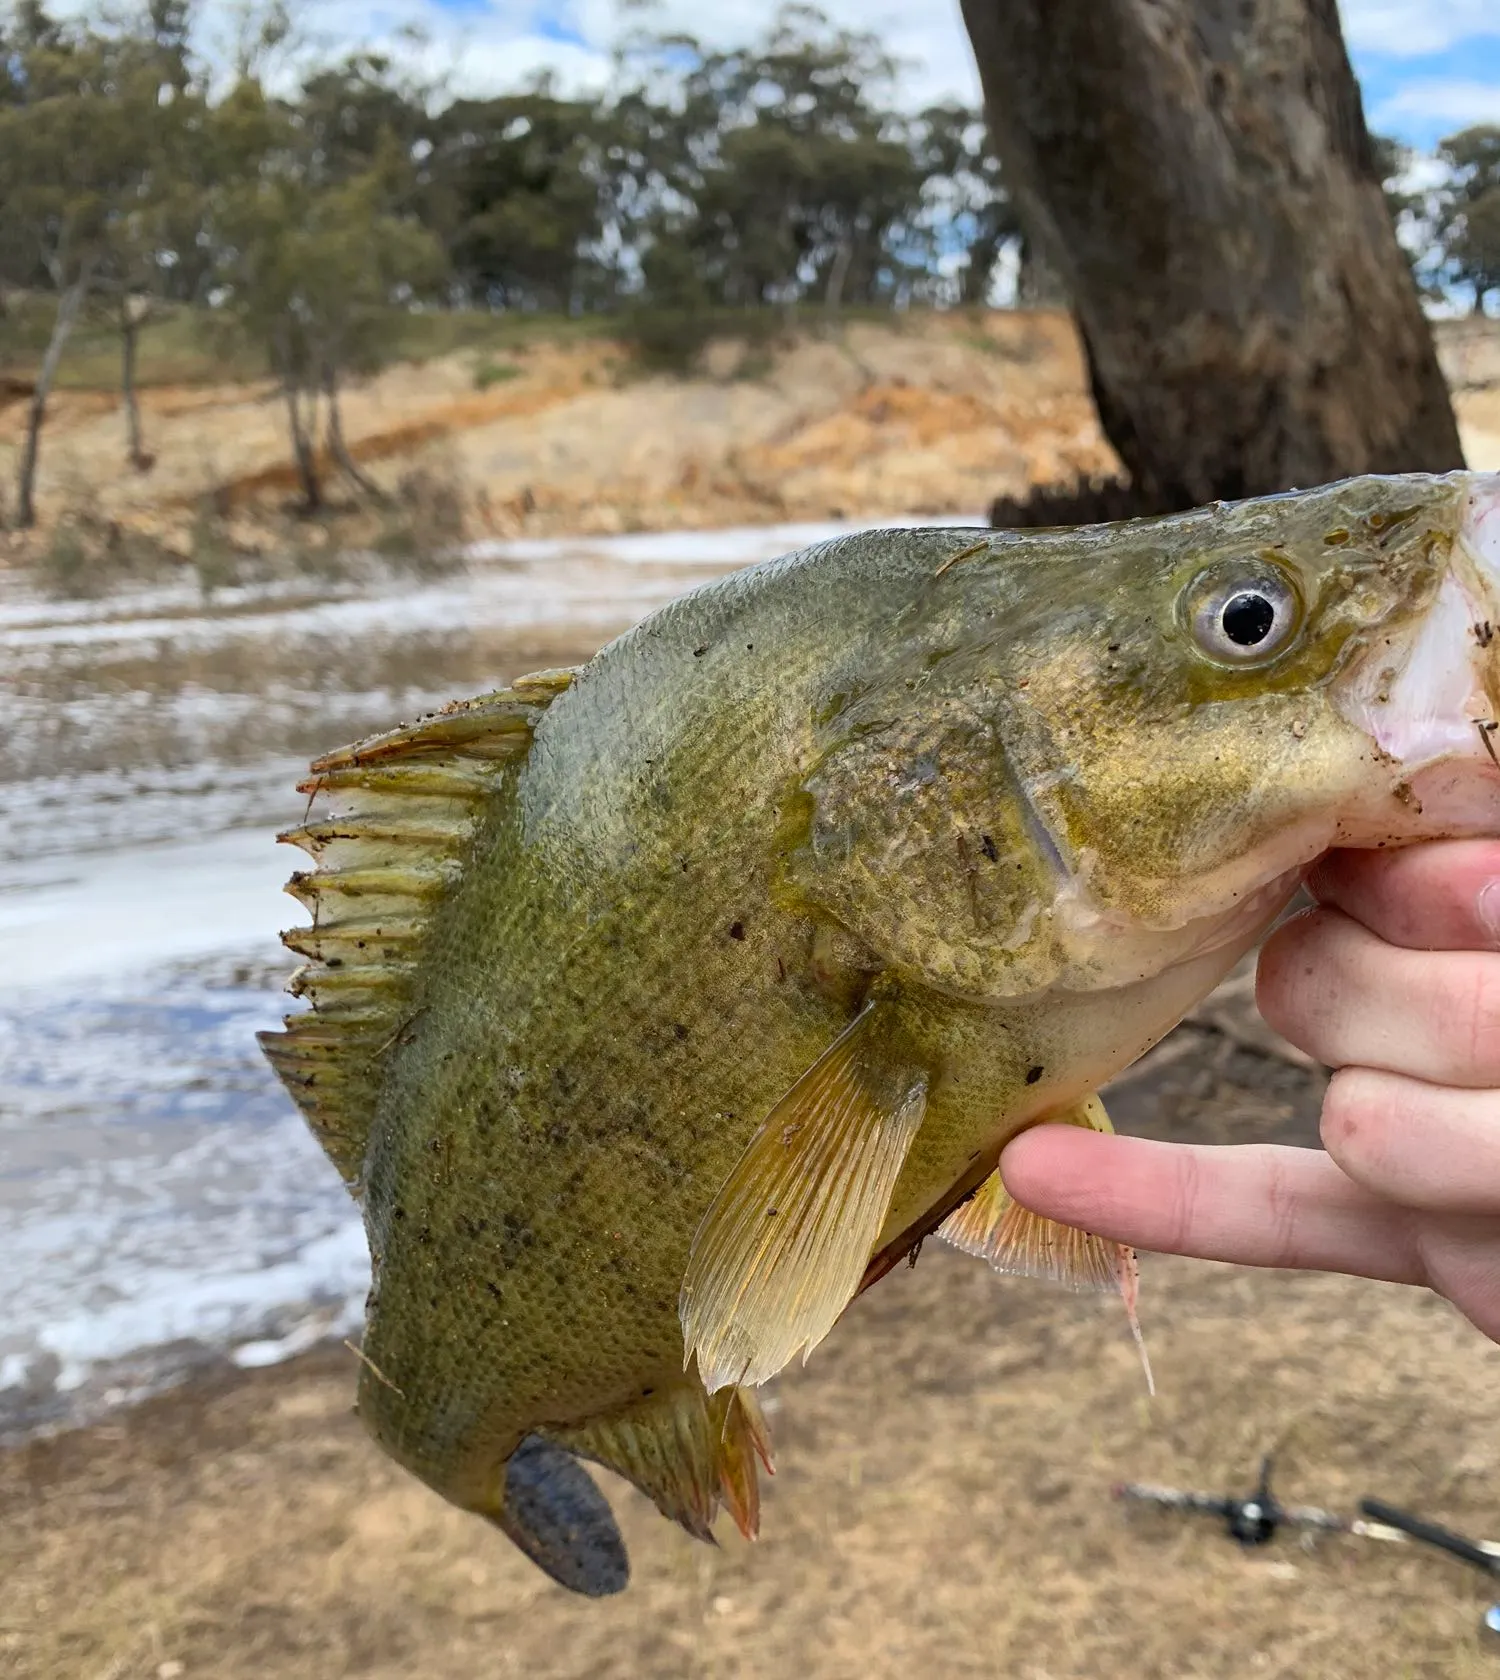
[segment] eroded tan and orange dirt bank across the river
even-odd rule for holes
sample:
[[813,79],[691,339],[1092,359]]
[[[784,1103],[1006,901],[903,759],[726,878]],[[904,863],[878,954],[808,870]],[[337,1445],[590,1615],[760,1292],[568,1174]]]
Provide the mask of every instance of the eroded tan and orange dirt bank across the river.
[[[1500,467],[1500,331],[1445,323],[1440,353],[1471,465]],[[24,403],[0,403],[0,486]],[[149,472],[124,464],[116,393],[54,396],[42,533],[69,511],[183,551],[205,502],[250,546],[292,494],[269,385],[143,391]],[[642,376],[608,339],[470,349],[354,385],[344,430],[385,489],[420,469],[462,496],[472,534],[670,529],[773,519],[983,512],[998,494],[1115,467],[1070,319],[1057,311],[910,314],[711,344],[692,378]],[[343,492],[336,477],[334,499]],[[3,494],[3,492],[0,492]],[[260,533],[264,543],[264,531]]]

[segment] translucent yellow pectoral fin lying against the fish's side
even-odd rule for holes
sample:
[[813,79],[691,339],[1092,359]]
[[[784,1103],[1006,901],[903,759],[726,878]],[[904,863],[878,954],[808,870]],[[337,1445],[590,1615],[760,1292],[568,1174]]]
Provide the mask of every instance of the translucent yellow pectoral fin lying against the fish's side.
[[776,1104],[692,1240],[685,1357],[709,1393],[764,1383],[833,1329],[853,1299],[927,1079],[873,1003]]

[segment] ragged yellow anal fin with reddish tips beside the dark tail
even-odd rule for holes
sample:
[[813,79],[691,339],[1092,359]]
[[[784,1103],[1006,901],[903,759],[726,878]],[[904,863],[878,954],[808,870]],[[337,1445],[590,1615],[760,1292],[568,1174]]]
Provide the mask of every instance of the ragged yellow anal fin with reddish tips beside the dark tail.
[[771,1440],[761,1408],[744,1389],[705,1394],[687,1378],[611,1416],[546,1433],[623,1475],[699,1541],[712,1539],[719,1505],[747,1541],[759,1530],[756,1462],[771,1470]]

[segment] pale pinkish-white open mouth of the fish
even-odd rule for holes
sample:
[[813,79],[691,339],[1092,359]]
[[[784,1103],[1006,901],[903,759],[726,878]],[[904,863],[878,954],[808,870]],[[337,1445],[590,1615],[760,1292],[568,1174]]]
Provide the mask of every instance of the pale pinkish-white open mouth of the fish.
[[[1461,761],[1500,769],[1500,474],[1460,492],[1448,568],[1421,618],[1340,684],[1339,711],[1406,778]],[[1450,778],[1451,780],[1451,778]]]

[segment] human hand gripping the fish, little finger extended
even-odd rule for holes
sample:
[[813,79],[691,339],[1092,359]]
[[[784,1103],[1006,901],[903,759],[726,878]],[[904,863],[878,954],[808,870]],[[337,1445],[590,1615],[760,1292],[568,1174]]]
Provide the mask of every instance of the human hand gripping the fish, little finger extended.
[[1040,1126],[1006,1188],[1137,1248],[1423,1284],[1500,1341],[1500,843],[1335,852],[1307,885],[1256,1000],[1339,1070],[1327,1152]]

